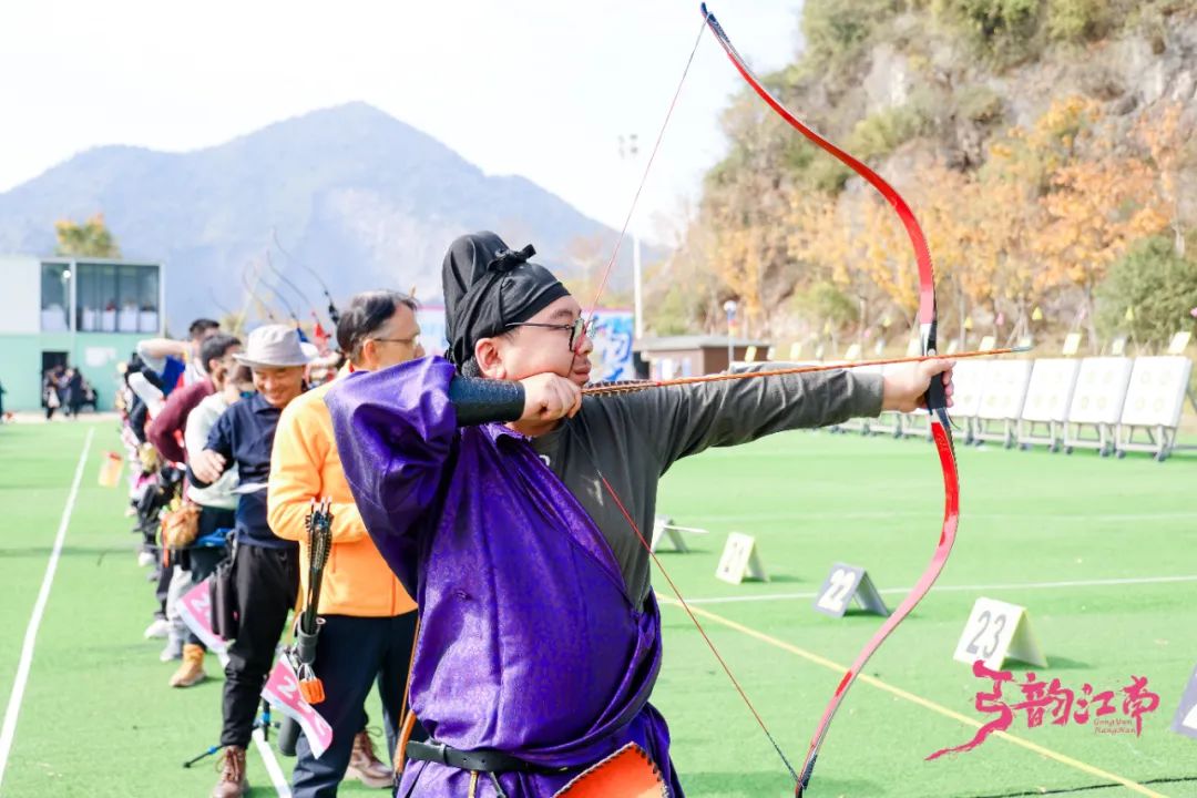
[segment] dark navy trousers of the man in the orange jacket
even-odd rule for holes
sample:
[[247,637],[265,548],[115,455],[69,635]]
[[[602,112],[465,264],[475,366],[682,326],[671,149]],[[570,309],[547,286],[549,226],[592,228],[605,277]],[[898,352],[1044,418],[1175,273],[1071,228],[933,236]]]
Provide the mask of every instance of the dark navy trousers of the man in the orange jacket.
[[[394,753],[415,638],[414,610],[394,617],[326,615],[323,619],[316,642],[316,676],[324,686],[324,700],[316,705],[316,711],[333,727],[333,744],[317,760],[311,755],[308,738],[299,737],[292,776],[296,798],[336,794],[353,753],[353,737],[366,723],[364,703],[376,680],[387,749]],[[417,725],[412,739],[425,737]]]

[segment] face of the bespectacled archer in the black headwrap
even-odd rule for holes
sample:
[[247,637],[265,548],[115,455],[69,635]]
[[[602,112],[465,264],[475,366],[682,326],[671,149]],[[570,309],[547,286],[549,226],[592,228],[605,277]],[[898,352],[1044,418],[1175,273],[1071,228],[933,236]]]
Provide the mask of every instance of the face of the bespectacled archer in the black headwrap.
[[[570,348],[570,331],[581,317],[578,300],[561,297],[522,325],[511,328],[510,335],[494,339],[505,371],[504,379],[552,372],[585,385],[590,380],[594,342],[583,334]],[[547,327],[533,327],[539,324]]]

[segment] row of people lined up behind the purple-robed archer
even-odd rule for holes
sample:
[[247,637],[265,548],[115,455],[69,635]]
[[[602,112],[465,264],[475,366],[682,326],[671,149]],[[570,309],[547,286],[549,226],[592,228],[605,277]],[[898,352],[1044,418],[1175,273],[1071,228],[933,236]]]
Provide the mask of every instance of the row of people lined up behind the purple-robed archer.
[[[333,743],[316,757],[299,739],[293,793],[334,796],[345,778],[394,784],[383,759],[399,736],[415,604],[365,530],[323,403],[329,385],[314,384],[312,376],[329,364],[340,378],[423,357],[415,310],[397,292],[353,297],[338,323],[339,353],[316,351],[290,325],[260,327],[243,343],[217,322],[198,319],[188,341],[139,343],[124,370],[139,556],[154,566],[156,616],[145,635],[166,640],[164,662],[181,660],[171,687],[207,678],[207,652],[186,627],[180,598],[220,567],[233,587],[237,628],[225,652],[214,797],[249,788],[245,755],[261,692],[288,636],[288,614],[302,609],[297,598],[306,593],[306,516],[324,498],[332,501],[333,550],[318,598],[316,670],[324,700],[316,709]],[[382,756],[365,712],[375,683],[387,738]]]

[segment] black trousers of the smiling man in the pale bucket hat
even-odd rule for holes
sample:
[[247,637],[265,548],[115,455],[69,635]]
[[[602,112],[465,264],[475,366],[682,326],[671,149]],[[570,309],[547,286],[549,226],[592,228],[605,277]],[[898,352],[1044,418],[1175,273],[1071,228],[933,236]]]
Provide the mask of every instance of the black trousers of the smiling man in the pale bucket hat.
[[299,591],[299,549],[237,544],[237,639],[225,666],[221,745],[249,745],[262,687]]

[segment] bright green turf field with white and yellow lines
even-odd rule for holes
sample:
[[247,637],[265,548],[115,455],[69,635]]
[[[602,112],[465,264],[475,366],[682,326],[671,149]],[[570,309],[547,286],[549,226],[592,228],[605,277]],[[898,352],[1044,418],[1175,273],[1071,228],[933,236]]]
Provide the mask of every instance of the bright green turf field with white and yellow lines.
[[[0,695],[7,705],[92,431],[0,796],[206,796],[213,768],[181,763],[217,738],[219,669],[209,659],[215,678],[170,690],[174,664],[158,662],[160,641],[141,639],[152,586],[134,561],[123,491],[96,480],[103,451],[116,447],[110,422],[0,427]],[[808,794],[1197,796],[1197,741],[1168,731],[1197,664],[1197,457],[1159,464],[973,447],[959,456],[955,552],[936,590],[874,657],[871,678],[849,694]],[[938,538],[942,497],[925,443],[826,433],[711,451],[667,476],[661,512],[711,534],[692,538],[695,552],[662,560],[795,767],[838,666],[880,625],[861,613],[815,613],[814,591],[832,562],[851,562],[897,605],[898,589],[916,581]],[[713,578],[729,531],[757,537],[768,583]],[[1064,687],[1117,690],[1131,675],[1147,676],[1161,706],[1142,736],[1098,735],[1075,723],[1028,729],[1020,713],[1009,737],[925,762],[991,719],[973,708],[989,682],[952,659],[978,596],[1028,609],[1050,660],[1041,674]],[[670,721],[687,794],[792,794],[784,766],[691,622],[675,605],[663,613],[655,703]],[[1022,681],[1027,668],[1013,670]],[[1007,696],[1016,693],[1007,688]],[[290,772],[291,761],[281,763]],[[274,793],[256,753],[249,776],[254,794]],[[360,785],[344,792],[379,794]]]

